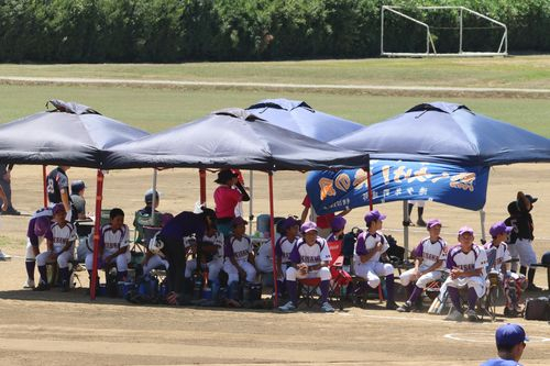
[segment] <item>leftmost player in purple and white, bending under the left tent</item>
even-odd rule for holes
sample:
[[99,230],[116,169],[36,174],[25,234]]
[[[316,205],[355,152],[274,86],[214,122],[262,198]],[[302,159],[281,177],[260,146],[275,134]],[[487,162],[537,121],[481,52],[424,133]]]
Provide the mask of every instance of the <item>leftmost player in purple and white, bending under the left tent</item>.
[[52,210],[44,208],[33,213],[26,229],[26,281],[23,288],[34,288],[34,267],[40,254],[40,243],[52,226]]

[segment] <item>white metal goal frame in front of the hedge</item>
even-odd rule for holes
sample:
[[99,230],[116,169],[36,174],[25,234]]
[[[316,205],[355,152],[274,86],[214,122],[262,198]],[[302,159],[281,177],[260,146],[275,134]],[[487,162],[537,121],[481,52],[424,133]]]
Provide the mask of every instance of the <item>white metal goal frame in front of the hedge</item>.
[[[432,32],[430,31],[430,25],[415,19],[410,15],[405,14],[402,11],[402,7],[396,5],[382,5],[382,14],[381,14],[381,55],[387,57],[433,57],[433,56],[463,56],[463,57],[475,57],[475,56],[506,56],[508,55],[508,29],[506,24],[501,23],[487,15],[473,11],[471,9],[464,7],[417,7],[416,9],[420,10],[458,10],[459,11],[459,52],[458,53],[444,53],[439,54],[436,49],[436,45],[433,43]],[[398,16],[406,19],[413,23],[416,23],[426,29],[426,52],[424,53],[408,53],[408,52],[386,52],[384,51],[384,14],[385,12],[391,12],[397,14]],[[498,49],[496,52],[464,52],[462,49],[462,41],[463,41],[463,14],[470,13],[481,19],[488,21],[490,23],[496,25],[497,27],[503,29],[503,36],[501,38],[501,44],[498,45]]]

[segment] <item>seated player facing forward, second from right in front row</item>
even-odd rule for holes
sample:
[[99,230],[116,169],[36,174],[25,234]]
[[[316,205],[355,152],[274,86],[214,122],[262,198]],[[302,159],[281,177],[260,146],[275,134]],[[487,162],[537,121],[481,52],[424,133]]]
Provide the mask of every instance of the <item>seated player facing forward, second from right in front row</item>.
[[468,287],[468,310],[465,315],[470,321],[476,321],[475,304],[485,293],[485,267],[487,257],[483,247],[474,244],[472,228],[462,226],[459,230],[459,245],[455,245],[447,255],[447,268],[450,276],[443,284],[451,297],[454,312],[447,320],[462,320],[464,312],[460,303],[460,287]]

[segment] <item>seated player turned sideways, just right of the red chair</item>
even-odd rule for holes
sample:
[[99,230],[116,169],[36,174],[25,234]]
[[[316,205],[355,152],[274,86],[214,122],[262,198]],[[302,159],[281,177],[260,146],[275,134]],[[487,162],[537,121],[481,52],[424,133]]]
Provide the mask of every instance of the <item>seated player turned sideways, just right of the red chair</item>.
[[378,287],[378,276],[385,276],[386,309],[395,310],[397,304],[394,301],[394,266],[389,263],[380,262],[381,257],[389,248],[386,237],[381,232],[382,222],[386,219],[386,215],[378,210],[374,210],[367,212],[364,219],[366,231],[358,236],[353,269],[355,275],[364,278],[371,288]]

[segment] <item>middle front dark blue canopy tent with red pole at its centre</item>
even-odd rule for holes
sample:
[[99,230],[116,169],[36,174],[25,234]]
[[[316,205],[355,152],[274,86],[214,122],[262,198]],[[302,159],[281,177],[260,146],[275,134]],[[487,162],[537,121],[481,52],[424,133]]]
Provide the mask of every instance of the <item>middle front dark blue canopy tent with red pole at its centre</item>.
[[[168,131],[113,146],[105,152],[103,167],[241,168],[266,171],[270,181],[272,251],[275,251],[273,171],[367,168],[369,155],[334,147],[265,123],[246,110],[226,109]],[[273,258],[275,260],[275,253]],[[276,271],[275,263],[273,267]]]

